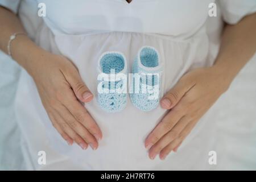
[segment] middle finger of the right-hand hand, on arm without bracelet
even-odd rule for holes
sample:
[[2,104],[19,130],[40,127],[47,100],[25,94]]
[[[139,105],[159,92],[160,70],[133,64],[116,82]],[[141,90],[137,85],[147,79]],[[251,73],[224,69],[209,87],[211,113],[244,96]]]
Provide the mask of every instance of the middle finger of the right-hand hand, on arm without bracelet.
[[174,126],[174,128],[169,131],[166,135],[164,135],[158,142],[154,144],[150,148],[150,151],[148,152],[148,155],[150,159],[154,159],[156,155],[160,153],[160,151],[163,150],[164,147],[166,147],[169,143],[174,141],[176,138],[179,138],[179,135],[181,131],[187,126],[189,123],[189,118],[183,117],[180,119],[179,122]]

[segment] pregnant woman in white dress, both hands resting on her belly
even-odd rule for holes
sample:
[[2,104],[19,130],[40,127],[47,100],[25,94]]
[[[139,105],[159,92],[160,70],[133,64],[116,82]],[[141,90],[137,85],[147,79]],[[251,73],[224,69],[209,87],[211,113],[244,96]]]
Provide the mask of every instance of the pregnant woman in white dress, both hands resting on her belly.
[[[216,7],[216,16],[209,16]],[[210,107],[256,50],[256,1],[0,0],[0,48],[21,67],[15,117],[28,169],[207,169]],[[223,23],[224,22],[224,23]],[[143,46],[162,64],[159,105],[97,102],[98,60]],[[236,98],[234,98],[236,99]],[[209,110],[209,111],[208,111]],[[234,113],[236,114],[236,113]],[[38,164],[45,151],[46,165]]]

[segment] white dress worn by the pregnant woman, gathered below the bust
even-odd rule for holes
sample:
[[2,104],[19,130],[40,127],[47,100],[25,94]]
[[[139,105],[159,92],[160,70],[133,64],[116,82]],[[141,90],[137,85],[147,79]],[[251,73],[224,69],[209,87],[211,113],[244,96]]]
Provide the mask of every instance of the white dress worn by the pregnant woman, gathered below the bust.
[[[37,16],[37,2],[0,0],[20,16],[28,35],[39,46],[67,56],[85,84],[97,95],[97,60],[105,51],[121,51],[128,71],[142,46],[158,49],[164,63],[161,96],[184,73],[214,63],[220,46],[222,19],[235,24],[256,11],[256,1],[216,1],[217,17],[209,17],[210,0],[41,0],[46,17]],[[52,127],[35,83],[24,69],[15,98],[15,117],[22,131],[23,155],[28,169],[209,169],[208,152],[214,150],[214,114],[208,111],[184,140],[179,152],[166,160],[150,160],[144,139],[166,110],[150,112],[127,107],[105,113],[96,100],[85,105],[104,138],[98,150],[68,146]],[[38,164],[38,151],[47,163]]]

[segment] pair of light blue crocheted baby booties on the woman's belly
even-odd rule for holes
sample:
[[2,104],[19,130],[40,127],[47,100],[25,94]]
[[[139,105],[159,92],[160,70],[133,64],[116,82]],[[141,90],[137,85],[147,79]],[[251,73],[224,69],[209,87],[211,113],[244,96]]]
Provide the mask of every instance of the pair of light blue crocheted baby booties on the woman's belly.
[[[99,72],[108,78],[113,73],[113,70],[114,74],[123,73],[127,75],[126,58],[121,52],[104,52],[98,61],[98,68]],[[132,73],[133,75],[137,73],[140,77],[138,81],[135,80],[135,77],[131,78],[129,88],[131,102],[142,111],[155,109],[159,105],[160,75],[162,73],[158,51],[154,47],[143,46],[135,57]],[[101,84],[99,85],[99,83]],[[110,90],[108,93],[99,92],[97,88],[97,101],[101,109],[109,113],[115,113],[125,109],[127,105],[127,93],[111,92],[112,89],[126,89],[126,85],[123,84],[122,80],[113,81],[111,78],[106,80],[98,79],[98,88],[100,86],[102,89]],[[147,92],[143,91],[143,86],[147,86]],[[152,94],[154,94],[152,89],[158,89],[158,96],[152,97]]]

